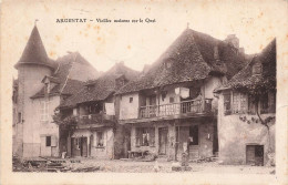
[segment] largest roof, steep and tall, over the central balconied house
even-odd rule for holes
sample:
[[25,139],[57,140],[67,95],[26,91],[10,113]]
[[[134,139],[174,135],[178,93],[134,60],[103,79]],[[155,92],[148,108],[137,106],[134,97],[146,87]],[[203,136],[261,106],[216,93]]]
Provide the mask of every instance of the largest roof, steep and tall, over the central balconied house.
[[[214,58],[215,47],[218,48],[218,61]],[[166,62],[171,63],[169,68],[166,68]],[[203,80],[213,74],[226,74],[229,79],[245,64],[245,54],[228,43],[186,29],[144,75],[123,86],[116,94]]]

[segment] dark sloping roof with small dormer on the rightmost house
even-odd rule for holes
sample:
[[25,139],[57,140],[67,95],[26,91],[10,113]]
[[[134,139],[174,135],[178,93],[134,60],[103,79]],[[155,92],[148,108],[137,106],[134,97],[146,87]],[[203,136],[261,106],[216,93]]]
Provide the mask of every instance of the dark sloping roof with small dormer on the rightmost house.
[[[253,65],[257,62],[263,64],[263,74],[253,75]],[[258,55],[227,83],[216,89],[219,92],[225,89],[248,89],[256,88],[275,89],[276,88],[276,39],[274,39]]]

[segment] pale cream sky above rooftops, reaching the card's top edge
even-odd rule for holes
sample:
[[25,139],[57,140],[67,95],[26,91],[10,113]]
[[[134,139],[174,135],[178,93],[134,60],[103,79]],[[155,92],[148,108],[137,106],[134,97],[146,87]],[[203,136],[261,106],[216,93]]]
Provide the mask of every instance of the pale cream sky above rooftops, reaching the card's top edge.
[[[259,2],[259,1],[258,1]],[[16,1],[2,4],[1,27],[6,60],[10,66],[20,59],[34,20],[51,59],[79,51],[96,70],[116,62],[141,71],[151,64],[187,28],[224,40],[236,34],[247,54],[260,52],[276,35],[272,1]],[[10,10],[13,13],[10,13]],[[271,21],[271,14],[276,18]],[[127,19],[136,23],[99,23],[96,19]],[[145,19],[155,22],[145,22]],[[58,23],[56,19],[88,19],[85,23]],[[278,22],[277,22],[278,21]],[[17,78],[17,71],[12,70]]]

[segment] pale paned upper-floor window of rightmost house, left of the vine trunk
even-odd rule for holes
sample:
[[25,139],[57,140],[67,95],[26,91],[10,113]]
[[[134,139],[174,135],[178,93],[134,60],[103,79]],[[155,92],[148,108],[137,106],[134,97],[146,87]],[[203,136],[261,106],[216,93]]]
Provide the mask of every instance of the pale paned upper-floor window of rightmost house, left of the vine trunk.
[[247,95],[240,92],[233,93],[233,113],[246,113],[248,110]]

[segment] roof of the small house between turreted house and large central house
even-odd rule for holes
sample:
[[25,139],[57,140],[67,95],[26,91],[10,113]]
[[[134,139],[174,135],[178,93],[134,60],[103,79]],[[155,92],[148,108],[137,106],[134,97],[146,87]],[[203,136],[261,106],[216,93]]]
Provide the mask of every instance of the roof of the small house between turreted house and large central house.
[[[84,84],[85,86],[83,86],[78,93],[62,102],[60,107],[66,109],[81,103],[104,101],[119,90],[115,81],[116,79],[123,76],[130,81],[135,79],[138,74],[140,72],[125,66],[123,63],[117,63],[99,79],[88,81]],[[88,85],[91,86],[91,90],[88,89]]]

